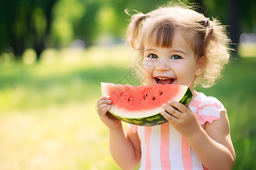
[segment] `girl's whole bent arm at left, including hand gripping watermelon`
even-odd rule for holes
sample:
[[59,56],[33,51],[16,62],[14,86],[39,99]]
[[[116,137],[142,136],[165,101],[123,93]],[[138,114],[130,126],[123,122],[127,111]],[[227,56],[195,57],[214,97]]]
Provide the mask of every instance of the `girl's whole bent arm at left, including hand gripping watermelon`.
[[137,133],[132,129],[124,130],[121,120],[114,117],[110,110],[109,96],[102,96],[98,100],[98,115],[101,121],[109,128],[110,152],[115,162],[122,169],[134,169],[141,160],[141,146]]

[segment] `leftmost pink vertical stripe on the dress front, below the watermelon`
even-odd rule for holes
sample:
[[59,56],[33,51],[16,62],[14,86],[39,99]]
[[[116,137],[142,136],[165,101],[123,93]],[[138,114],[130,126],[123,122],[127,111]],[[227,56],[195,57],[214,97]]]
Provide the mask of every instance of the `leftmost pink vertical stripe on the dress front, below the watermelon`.
[[151,169],[151,161],[150,161],[150,134],[151,134],[151,126],[145,127],[144,130],[144,138],[146,141],[146,163],[145,168]]

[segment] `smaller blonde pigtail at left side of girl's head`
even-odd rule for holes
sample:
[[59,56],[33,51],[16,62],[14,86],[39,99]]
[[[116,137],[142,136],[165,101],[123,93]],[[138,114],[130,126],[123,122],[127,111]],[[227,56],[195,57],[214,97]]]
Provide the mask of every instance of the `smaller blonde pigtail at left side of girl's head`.
[[[130,15],[127,10],[125,12],[126,14]],[[138,50],[139,46],[141,45],[141,37],[139,36],[139,33],[141,31],[141,25],[143,21],[146,18],[148,18],[148,16],[139,12],[138,14],[134,14],[130,16],[131,16],[131,22],[127,29],[127,41],[135,50]]]

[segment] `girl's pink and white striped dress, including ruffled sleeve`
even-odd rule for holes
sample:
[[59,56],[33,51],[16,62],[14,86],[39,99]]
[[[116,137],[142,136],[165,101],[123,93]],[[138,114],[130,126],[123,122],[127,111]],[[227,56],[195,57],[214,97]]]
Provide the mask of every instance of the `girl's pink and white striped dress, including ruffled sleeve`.
[[[220,119],[224,106],[214,97],[199,93],[189,104],[196,113],[200,125]],[[138,132],[141,141],[141,169],[207,169],[197,158],[187,139],[181,136],[170,123],[159,126],[127,125]]]

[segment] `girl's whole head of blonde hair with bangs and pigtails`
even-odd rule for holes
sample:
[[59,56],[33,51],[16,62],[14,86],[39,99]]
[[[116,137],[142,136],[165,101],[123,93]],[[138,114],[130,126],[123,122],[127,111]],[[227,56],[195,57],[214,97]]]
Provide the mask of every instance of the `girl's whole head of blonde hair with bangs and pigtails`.
[[137,12],[130,16],[127,41],[138,50],[140,58],[143,58],[145,41],[170,48],[174,33],[178,30],[190,42],[195,56],[207,64],[204,73],[197,76],[195,86],[213,86],[220,77],[221,70],[229,60],[230,39],[226,35],[225,26],[218,20],[208,20],[196,12],[194,6],[185,5],[169,5],[147,14]]

